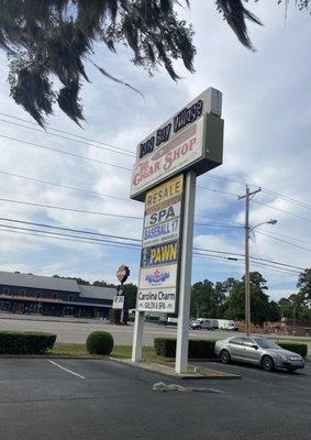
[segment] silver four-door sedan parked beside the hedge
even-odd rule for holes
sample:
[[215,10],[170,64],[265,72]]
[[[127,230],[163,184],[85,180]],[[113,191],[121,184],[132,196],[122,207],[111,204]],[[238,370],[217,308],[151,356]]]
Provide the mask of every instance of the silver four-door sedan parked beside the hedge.
[[275,342],[259,337],[232,337],[216,341],[215,354],[224,364],[232,361],[262,365],[266,371],[286,369],[296,371],[304,367],[303,359],[291,351],[284,350]]

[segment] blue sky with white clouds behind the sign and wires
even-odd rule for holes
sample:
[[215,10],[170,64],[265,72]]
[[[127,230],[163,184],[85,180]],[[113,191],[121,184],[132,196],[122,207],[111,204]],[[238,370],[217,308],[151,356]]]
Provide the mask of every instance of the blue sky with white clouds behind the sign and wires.
[[[252,190],[263,189],[251,202],[251,224],[277,220],[275,226],[256,228],[251,256],[297,267],[291,267],[292,272],[288,266],[276,270],[253,260],[251,271],[259,271],[267,279],[273,299],[296,292],[299,267],[310,267],[311,251],[308,45],[311,18],[293,6],[289,6],[286,14],[285,7],[277,6],[277,1],[248,2],[248,7],[264,23],[264,26],[249,24],[256,52],[238,43],[215,11],[214,1],[192,0],[190,10],[179,9],[180,15],[193,24],[197,56],[195,74],[187,72],[181,63],[176,64],[181,76],[178,82],[163,68],[148,77],[131,63],[132,54],[124,47],[112,54],[103,46],[96,46],[93,59],[138,89],[144,98],[112,82],[88,64],[91,82],[84,84],[81,94],[86,117],[82,129],[55,109],[47,132],[43,132],[9,97],[8,82],[3,79],[8,74],[7,58],[1,52],[0,217],[140,240],[143,204],[129,198],[136,145],[204,89],[214,87],[223,94],[224,158],[220,167],[198,178],[195,221],[200,224],[195,227],[193,244],[221,251],[223,254],[215,255],[225,258],[195,256],[192,283],[243,276],[243,262],[226,257],[229,252],[244,254],[245,200],[237,196],[245,194],[248,184]],[[129,282],[137,282],[140,250],[107,242],[116,239],[101,237],[105,242],[86,243],[70,241],[75,239],[68,237],[63,237],[66,240],[37,237],[36,232],[8,230],[4,226],[42,229],[0,220],[1,271],[116,283],[116,268],[126,264],[131,268]],[[124,245],[124,239],[118,241]],[[281,267],[287,271],[280,271]]]

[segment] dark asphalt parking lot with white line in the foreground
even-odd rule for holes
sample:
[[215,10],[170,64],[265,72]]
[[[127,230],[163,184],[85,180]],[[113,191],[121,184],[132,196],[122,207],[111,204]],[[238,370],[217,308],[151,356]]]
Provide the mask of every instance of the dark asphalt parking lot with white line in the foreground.
[[[111,361],[0,359],[1,440],[310,438],[310,363],[293,374],[198,365],[241,380],[178,381]],[[213,393],[154,392],[159,381]]]

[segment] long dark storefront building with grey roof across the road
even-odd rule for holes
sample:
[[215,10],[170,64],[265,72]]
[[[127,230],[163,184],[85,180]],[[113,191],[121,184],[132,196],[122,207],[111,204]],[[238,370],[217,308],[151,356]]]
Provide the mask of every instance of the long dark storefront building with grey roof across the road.
[[0,311],[108,318],[114,295],[75,279],[0,272]]

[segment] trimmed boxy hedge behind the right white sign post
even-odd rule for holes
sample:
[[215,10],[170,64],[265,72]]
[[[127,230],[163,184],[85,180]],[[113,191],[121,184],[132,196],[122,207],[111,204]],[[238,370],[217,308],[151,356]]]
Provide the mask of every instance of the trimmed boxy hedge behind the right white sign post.
[[[215,340],[189,340],[188,358],[190,359],[212,359],[214,358]],[[176,339],[155,338],[154,348],[157,355],[166,358],[176,356]]]

